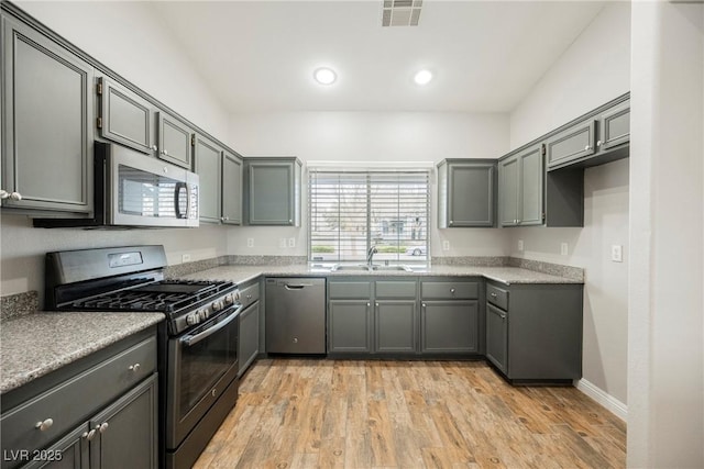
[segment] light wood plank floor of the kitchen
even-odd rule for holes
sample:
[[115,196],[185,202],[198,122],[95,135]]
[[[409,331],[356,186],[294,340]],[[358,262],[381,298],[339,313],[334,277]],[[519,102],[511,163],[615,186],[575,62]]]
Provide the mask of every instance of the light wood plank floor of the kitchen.
[[626,425],[483,361],[260,360],[196,468],[623,468]]

